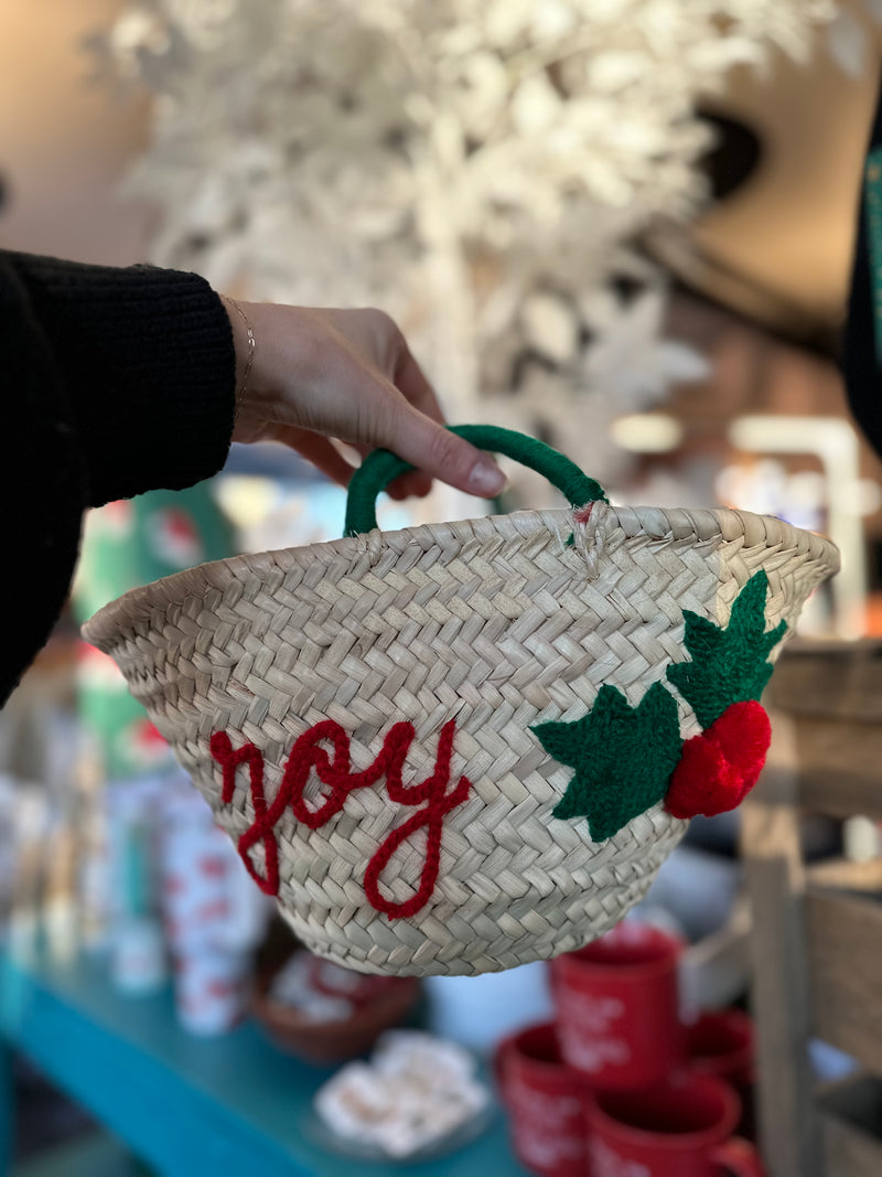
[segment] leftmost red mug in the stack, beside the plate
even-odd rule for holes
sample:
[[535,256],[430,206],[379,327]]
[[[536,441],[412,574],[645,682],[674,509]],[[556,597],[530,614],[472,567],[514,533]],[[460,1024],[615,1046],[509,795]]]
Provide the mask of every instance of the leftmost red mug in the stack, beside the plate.
[[494,1063],[521,1164],[542,1177],[586,1177],[584,1084],[561,1060],[554,1025],[529,1026],[506,1038]]

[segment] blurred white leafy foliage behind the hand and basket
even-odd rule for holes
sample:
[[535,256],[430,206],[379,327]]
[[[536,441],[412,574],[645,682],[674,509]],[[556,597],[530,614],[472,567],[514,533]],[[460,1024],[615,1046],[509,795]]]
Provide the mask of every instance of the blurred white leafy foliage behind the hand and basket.
[[[526,412],[486,400],[512,392],[524,351],[576,411],[599,390],[642,407],[689,368],[655,348],[654,374],[626,374],[617,395],[602,357],[620,371],[628,348],[603,344],[621,335],[603,292],[627,242],[706,199],[696,95],[773,48],[808,60],[835,14],[833,0],[132,0],[96,48],[156,97],[131,181],[161,211],[153,260],[252,298],[383,306],[454,414],[499,419]],[[657,330],[649,281],[636,319]]]

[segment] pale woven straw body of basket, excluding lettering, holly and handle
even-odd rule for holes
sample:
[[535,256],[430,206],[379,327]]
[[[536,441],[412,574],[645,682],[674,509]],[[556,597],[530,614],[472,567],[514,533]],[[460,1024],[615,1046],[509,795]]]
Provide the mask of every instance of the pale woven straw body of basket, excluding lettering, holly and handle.
[[[255,818],[248,773],[225,804],[213,733],[262,752],[269,800],[316,723],[340,724],[363,770],[390,725],[410,720],[406,773],[422,780],[455,720],[453,780],[465,773],[473,787],[445,817],[430,900],[400,919],[366,900],[365,865],[402,816],[377,785],[320,829],[283,814],[279,904],[308,947],[349,967],[469,975],[608,930],[687,825],[656,805],[597,843],[584,820],[555,818],[572,772],[530,726],[583,716],[603,684],[635,705],[684,659],[683,610],[724,624],[760,568],[769,626],[791,627],[836,566],[827,540],[776,519],[597,503],[582,523],[523,512],[202,565],[128,593],[85,633],[119,663],[236,840]],[[679,703],[689,737],[700,729]],[[419,886],[425,845],[416,834],[389,863],[392,900]],[[249,853],[262,870],[261,843]]]

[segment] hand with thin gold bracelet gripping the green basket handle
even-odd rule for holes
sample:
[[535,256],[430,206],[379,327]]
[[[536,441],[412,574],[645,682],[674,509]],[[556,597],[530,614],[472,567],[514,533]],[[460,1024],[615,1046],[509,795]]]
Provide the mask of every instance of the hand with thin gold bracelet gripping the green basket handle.
[[[248,361],[248,332],[225,306],[236,348],[236,387]],[[442,425],[443,415],[405,337],[382,311],[334,311],[240,304],[255,347],[234,441],[281,441],[346,486],[354,466],[330,438],[362,455],[392,450],[416,468],[390,487],[425,494],[432,478],[493,498],[506,478],[493,459]]]

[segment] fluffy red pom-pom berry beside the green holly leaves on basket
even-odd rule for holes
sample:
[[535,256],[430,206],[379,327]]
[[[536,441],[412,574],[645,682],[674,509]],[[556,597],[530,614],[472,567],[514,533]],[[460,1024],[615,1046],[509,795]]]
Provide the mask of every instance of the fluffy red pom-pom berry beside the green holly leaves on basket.
[[674,817],[713,817],[735,809],[760,779],[771,742],[766,709],[733,703],[701,736],[683,744],[664,809]]

